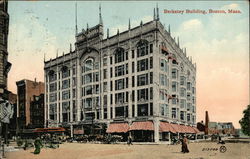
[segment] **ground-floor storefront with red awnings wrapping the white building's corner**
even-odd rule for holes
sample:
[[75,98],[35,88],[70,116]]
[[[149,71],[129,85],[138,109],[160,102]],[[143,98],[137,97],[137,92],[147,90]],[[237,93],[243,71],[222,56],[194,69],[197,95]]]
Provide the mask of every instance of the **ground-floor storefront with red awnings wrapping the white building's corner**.
[[[161,142],[180,140],[184,135],[196,139],[199,130],[196,127],[169,123],[166,121],[113,122],[107,127],[108,134],[120,133],[133,142]],[[125,134],[125,135],[124,135]]]

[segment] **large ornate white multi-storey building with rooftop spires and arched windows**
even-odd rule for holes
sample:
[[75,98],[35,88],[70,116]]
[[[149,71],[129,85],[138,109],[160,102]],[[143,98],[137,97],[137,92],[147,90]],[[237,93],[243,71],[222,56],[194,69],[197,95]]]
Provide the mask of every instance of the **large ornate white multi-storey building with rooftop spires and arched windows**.
[[165,30],[158,8],[152,21],[129,22],[107,37],[99,16],[98,25],[76,34],[74,51],[44,62],[45,124],[106,123],[107,132],[146,130],[155,142],[166,122],[194,126],[196,65]]

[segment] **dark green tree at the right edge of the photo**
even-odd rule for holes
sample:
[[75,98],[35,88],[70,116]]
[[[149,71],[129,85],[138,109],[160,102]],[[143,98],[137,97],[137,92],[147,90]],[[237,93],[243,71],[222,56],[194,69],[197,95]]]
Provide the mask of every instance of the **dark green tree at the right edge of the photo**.
[[239,121],[242,132],[250,136],[250,105],[243,111],[243,118]]

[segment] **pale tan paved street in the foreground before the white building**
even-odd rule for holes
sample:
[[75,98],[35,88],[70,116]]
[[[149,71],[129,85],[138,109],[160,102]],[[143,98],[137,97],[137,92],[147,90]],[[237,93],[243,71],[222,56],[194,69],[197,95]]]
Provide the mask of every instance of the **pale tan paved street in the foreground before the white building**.
[[216,143],[190,143],[190,153],[180,152],[181,145],[106,145],[65,143],[59,149],[34,149],[8,152],[8,159],[250,159],[250,144],[227,143],[221,153]]

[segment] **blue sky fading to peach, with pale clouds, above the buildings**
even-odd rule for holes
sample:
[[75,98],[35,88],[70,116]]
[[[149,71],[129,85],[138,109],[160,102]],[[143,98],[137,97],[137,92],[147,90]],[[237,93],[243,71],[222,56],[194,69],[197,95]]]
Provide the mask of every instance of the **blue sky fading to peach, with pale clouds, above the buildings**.
[[[78,31],[99,22],[102,7],[104,31],[110,34],[153,19],[158,4],[160,21],[197,64],[197,121],[233,122],[236,128],[249,104],[249,2],[248,1],[77,1]],[[164,13],[164,10],[239,10],[241,13]],[[62,55],[75,42],[75,1],[9,2],[8,89],[16,81],[44,81],[46,60]]]

